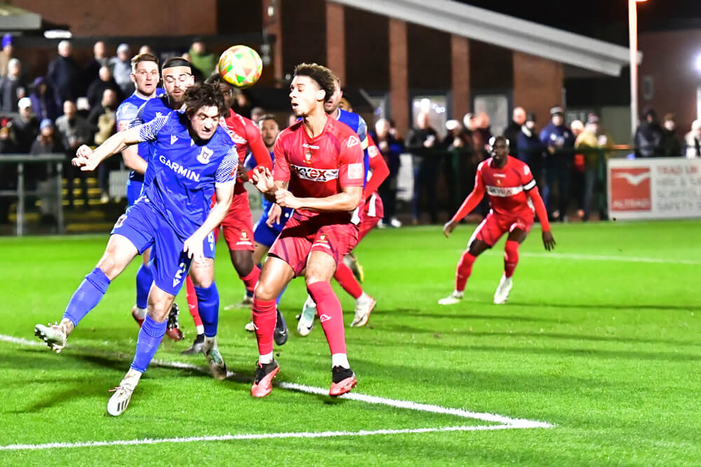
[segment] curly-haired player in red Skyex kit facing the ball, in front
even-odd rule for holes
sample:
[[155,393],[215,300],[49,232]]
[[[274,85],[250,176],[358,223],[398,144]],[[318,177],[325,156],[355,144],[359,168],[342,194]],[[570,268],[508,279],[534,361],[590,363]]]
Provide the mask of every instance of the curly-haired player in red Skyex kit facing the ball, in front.
[[256,286],[253,323],[260,354],[251,393],[267,396],[280,367],[273,359],[275,298],[304,272],[329,342],[332,384],[340,396],[357,383],[346,355],[341,302],[331,288],[336,266],[358,242],[358,205],[365,170],[358,134],[327,116],[324,102],[334,92],[334,75],[318,64],[299,64],[290,85],[292,111],[301,120],[275,141],[275,169],[252,175],[266,198],[294,214],[275,240]]

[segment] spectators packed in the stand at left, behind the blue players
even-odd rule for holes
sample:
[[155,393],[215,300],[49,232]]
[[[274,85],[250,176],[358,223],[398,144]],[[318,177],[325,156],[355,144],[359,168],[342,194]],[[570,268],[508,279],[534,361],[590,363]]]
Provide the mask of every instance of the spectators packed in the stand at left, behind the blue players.
[[[93,57],[79,63],[70,41],[60,41],[46,73],[32,79],[14,57],[13,37],[5,34],[0,51],[0,156],[2,154],[64,153],[64,178],[67,180],[69,208],[74,200],[74,179],[79,180],[81,201],[88,206],[86,174],[70,165],[81,144],[99,145],[116,132],[116,109],[135,88],[131,79],[131,59],[137,53],[153,53],[149,46],[132,50],[121,43],[116,55],[109,57],[103,41],[95,42]],[[195,39],[184,55],[191,60],[199,78],[215,69],[217,57],[208,52],[203,41]],[[167,57],[162,57],[163,59]],[[121,165],[118,159],[100,165],[97,181],[101,201],[109,201],[109,172]],[[104,166],[104,167],[103,167]],[[0,190],[14,189],[17,172],[14,165],[1,165]],[[41,190],[53,179],[51,165],[29,164],[25,169],[25,188]],[[55,190],[57,187],[50,187]],[[48,188],[47,188],[48,189]],[[52,193],[55,193],[53,191]],[[0,197],[0,223],[8,221],[12,200]],[[42,206],[42,211],[53,212]]]

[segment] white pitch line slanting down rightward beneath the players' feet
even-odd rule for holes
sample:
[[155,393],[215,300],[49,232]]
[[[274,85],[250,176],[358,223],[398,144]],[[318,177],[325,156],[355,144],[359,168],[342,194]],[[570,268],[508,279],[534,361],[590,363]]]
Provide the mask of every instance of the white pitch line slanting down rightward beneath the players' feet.
[[[26,339],[22,339],[21,337],[13,337],[10,335],[1,335],[1,334],[0,334],[0,341],[12,342],[14,344],[30,345],[32,347],[36,347],[36,346],[43,347],[45,345],[45,344],[43,344],[43,342],[34,341],[34,340],[26,340]],[[69,346],[67,346],[67,347],[69,347]],[[162,361],[162,360],[154,360],[151,362],[151,365],[165,367],[165,368],[178,368],[181,370],[195,370],[195,371],[199,371],[199,372],[209,373],[208,370],[205,370],[205,368],[202,368],[198,365],[193,365],[192,363],[184,363],[184,362],[178,362],[178,361],[167,362],[167,361]],[[277,386],[281,389],[289,389],[291,391],[298,391],[298,392],[304,392],[304,393],[309,393],[309,394],[318,394],[321,396],[325,396],[329,393],[328,389],[315,387],[315,386],[306,386],[304,384],[277,382],[277,384],[275,384],[275,386]],[[545,421],[527,420],[527,419],[512,419],[510,417],[504,417],[503,415],[498,415],[498,414],[490,414],[490,413],[484,413],[484,412],[470,412],[468,410],[455,409],[455,408],[451,408],[451,407],[441,407],[440,405],[416,403],[416,402],[412,402],[411,400],[397,400],[397,399],[388,399],[388,398],[377,397],[377,396],[369,396],[368,394],[362,394],[362,393],[346,393],[346,394],[343,394],[343,396],[340,396],[340,398],[350,399],[350,400],[358,400],[360,402],[365,402],[365,403],[369,403],[369,404],[387,405],[388,407],[397,407],[397,408],[408,409],[408,410],[418,410],[420,412],[431,412],[431,413],[435,413],[435,414],[447,414],[447,415],[454,415],[456,417],[462,417],[462,418],[466,418],[466,419],[477,419],[477,420],[482,420],[482,421],[489,421],[492,423],[504,424],[510,428],[552,428],[552,426],[554,426],[554,425],[549,424]]]

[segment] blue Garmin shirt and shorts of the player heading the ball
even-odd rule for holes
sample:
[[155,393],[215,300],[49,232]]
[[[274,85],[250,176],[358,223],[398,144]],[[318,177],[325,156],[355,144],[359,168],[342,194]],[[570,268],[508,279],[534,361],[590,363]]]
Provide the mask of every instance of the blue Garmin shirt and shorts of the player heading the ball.
[[151,182],[112,233],[130,239],[139,253],[154,246],[156,286],[177,295],[190,265],[184,241],[207,218],[215,186],[236,181],[238,155],[221,127],[210,140],[196,143],[187,116],[175,111],[144,125],[139,139],[151,144]]

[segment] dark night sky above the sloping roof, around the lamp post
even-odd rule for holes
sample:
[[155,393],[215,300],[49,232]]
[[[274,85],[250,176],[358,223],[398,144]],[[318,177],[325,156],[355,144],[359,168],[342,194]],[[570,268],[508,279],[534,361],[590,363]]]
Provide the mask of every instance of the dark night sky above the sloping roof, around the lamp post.
[[[458,0],[606,41],[627,43],[627,0]],[[701,28],[701,0],[647,0],[638,4],[639,31]]]

